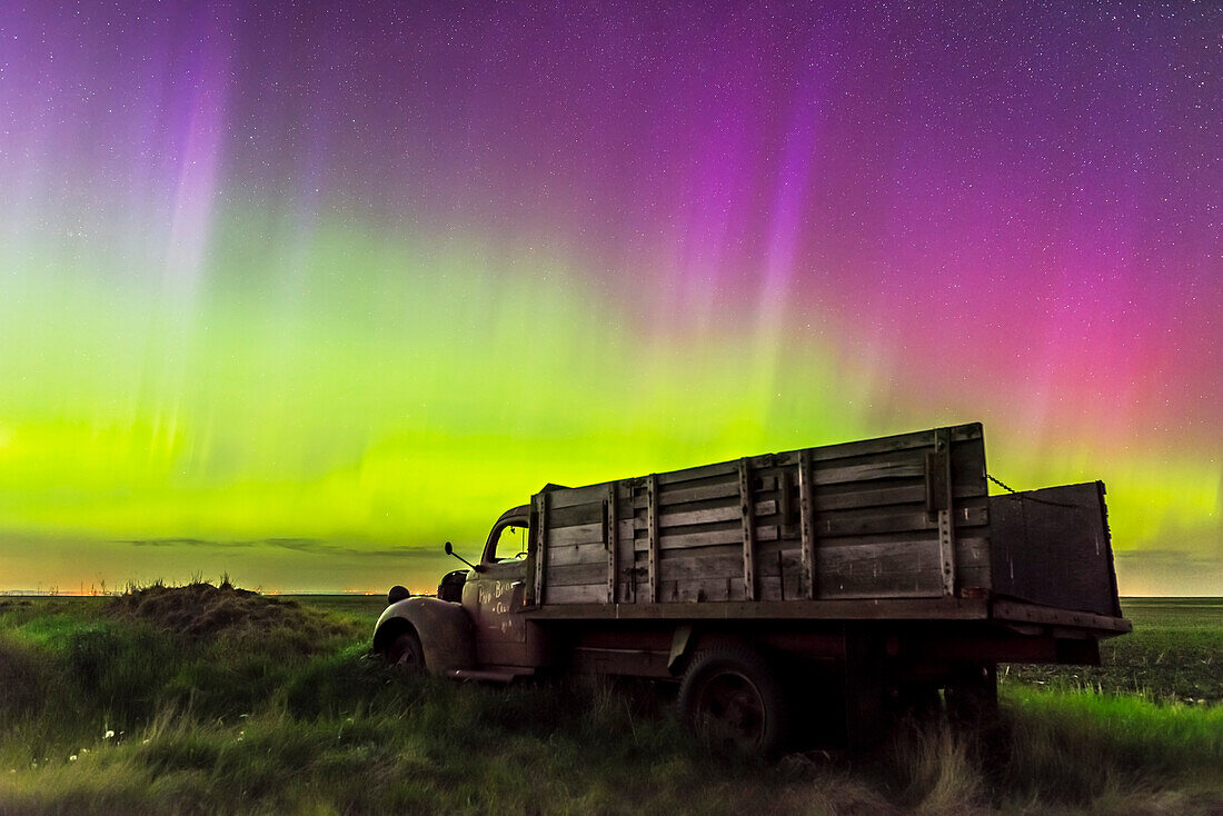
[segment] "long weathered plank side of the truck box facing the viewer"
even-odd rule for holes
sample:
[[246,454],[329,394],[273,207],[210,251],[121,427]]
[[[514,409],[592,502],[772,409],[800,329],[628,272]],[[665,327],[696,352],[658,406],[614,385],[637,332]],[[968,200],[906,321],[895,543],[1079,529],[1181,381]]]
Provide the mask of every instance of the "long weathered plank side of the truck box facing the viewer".
[[980,425],[548,495],[545,603],[937,598],[993,580]]

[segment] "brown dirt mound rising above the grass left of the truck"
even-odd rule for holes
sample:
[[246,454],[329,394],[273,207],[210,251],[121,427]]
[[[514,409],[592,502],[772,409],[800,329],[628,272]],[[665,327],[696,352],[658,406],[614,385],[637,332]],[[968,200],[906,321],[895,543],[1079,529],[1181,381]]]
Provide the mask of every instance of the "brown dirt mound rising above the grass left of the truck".
[[144,620],[194,639],[223,632],[287,626],[318,636],[338,635],[344,628],[325,615],[303,609],[296,601],[283,601],[229,582],[161,586],[130,590],[115,598],[108,610],[119,618]]

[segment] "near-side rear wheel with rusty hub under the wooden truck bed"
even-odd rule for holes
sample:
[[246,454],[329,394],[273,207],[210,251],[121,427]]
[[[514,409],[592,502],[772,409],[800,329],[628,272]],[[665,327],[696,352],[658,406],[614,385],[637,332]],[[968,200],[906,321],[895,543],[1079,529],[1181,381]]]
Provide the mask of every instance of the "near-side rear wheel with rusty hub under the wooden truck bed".
[[785,694],[759,653],[736,646],[698,652],[684,674],[680,713],[718,747],[770,756],[785,745]]

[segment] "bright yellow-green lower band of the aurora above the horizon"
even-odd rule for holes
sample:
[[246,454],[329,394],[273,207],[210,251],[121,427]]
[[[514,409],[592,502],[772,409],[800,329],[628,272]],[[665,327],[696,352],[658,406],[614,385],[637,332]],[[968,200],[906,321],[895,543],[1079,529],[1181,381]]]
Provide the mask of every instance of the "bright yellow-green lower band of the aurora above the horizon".
[[[296,235],[224,219],[190,297],[83,239],[6,252],[0,344],[20,354],[0,356],[0,530],[42,551],[0,551],[7,584],[229,569],[267,587],[423,588],[444,562],[413,554],[475,552],[547,481],[972,420],[1009,483],[1106,480],[1123,568],[1169,531],[1217,533],[1217,464],[1033,444],[971,383],[898,398],[878,361],[838,351],[849,329],[832,314],[793,335],[769,329],[796,322],[775,310],[651,332],[539,243]],[[1123,591],[1174,588],[1121,574]]]

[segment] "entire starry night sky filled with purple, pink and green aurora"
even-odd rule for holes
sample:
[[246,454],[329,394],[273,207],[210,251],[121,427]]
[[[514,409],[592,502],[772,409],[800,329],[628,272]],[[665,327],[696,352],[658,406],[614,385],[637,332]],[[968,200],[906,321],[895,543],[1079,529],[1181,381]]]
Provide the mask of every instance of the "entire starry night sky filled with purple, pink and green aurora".
[[0,588],[435,584],[982,421],[1223,595],[1214,4],[5,4]]

